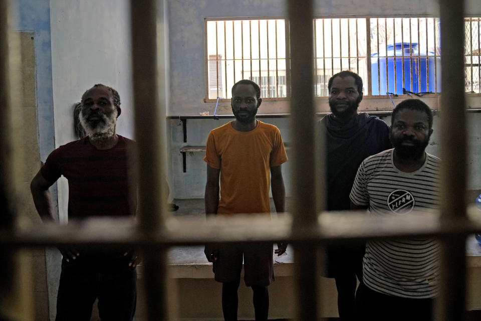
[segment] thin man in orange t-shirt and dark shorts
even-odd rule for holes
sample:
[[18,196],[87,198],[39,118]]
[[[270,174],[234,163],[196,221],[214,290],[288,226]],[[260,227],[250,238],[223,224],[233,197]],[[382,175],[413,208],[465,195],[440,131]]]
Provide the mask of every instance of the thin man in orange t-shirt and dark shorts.
[[[287,161],[287,154],[279,129],[256,119],[260,96],[261,89],[255,82],[235,83],[231,99],[235,120],[209,133],[204,157],[207,215],[270,215],[269,183],[276,211],[284,212],[286,193],[281,165]],[[278,243],[275,253],[283,254],[286,247],[287,243]],[[204,253],[213,264],[215,280],[222,282],[224,319],[237,320],[237,289],[244,257],[244,280],[254,291],[256,320],[267,320],[267,286],[274,281],[272,244],[207,245]]]

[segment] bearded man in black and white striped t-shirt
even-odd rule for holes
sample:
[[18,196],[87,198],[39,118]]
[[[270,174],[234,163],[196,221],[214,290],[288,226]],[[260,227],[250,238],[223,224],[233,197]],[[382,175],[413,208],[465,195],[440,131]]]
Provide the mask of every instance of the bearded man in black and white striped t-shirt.
[[[419,99],[399,103],[391,116],[388,149],[364,160],[351,191],[352,209],[374,217],[429,211],[439,204],[439,158],[425,152],[432,112]],[[356,294],[360,320],[430,320],[437,294],[435,239],[368,241],[363,282]]]

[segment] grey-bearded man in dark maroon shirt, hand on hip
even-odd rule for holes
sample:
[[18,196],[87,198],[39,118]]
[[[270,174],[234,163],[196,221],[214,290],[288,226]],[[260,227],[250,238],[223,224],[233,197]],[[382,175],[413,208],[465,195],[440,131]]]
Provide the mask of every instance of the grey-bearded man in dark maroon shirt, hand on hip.
[[[87,136],[55,149],[31,183],[37,211],[55,221],[49,192],[62,175],[69,183],[69,221],[89,217],[132,217],[128,158],[134,142],[116,134],[118,92],[97,84],[81,99]],[[59,247],[62,272],[56,320],[90,320],[96,298],[102,319],[132,320],[136,307],[137,255],[128,249]]]

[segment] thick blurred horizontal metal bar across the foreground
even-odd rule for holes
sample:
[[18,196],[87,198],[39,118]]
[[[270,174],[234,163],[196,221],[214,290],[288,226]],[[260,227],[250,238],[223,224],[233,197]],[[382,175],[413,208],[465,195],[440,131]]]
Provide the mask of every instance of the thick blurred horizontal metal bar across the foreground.
[[436,212],[402,217],[373,218],[362,213],[325,212],[318,224],[293,234],[291,216],[271,219],[266,215],[171,217],[165,229],[145,235],[131,220],[88,219],[69,225],[44,224],[0,233],[0,246],[46,246],[83,244],[102,246],[173,246],[211,242],[245,243],[250,241],[338,242],[411,236],[468,235],[481,230],[477,208],[468,209],[469,218],[443,219]]

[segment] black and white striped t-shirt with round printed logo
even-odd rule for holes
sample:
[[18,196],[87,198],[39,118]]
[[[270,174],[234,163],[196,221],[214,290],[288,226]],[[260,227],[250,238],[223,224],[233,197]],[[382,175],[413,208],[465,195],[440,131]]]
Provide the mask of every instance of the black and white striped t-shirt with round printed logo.
[[[354,181],[351,201],[369,206],[374,217],[429,211],[439,204],[439,158],[426,153],[423,166],[412,173],[399,171],[393,149],[364,160]],[[369,241],[363,260],[363,280],[371,289],[407,298],[437,294],[439,246],[433,238]]]

